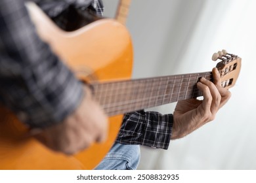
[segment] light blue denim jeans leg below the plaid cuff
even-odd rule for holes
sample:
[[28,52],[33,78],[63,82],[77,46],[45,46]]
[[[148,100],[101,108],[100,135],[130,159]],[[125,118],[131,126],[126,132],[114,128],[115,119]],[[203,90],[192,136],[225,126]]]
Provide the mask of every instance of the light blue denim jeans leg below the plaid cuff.
[[95,170],[135,170],[139,161],[139,145],[124,145],[115,142]]

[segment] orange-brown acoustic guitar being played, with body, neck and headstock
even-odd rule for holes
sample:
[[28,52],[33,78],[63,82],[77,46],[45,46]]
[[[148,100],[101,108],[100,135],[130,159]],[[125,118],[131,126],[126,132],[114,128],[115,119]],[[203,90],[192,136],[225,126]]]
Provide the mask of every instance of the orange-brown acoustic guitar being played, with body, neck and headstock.
[[[212,73],[192,73],[131,80],[133,48],[129,32],[116,20],[102,19],[76,31],[65,32],[35,5],[28,5],[40,37],[80,80],[91,80],[95,99],[109,118],[109,137],[74,156],[45,148],[10,110],[0,107],[0,169],[93,169],[110,150],[122,121],[122,114],[183,99],[202,96],[195,84],[200,77],[212,80]],[[72,48],[72,49],[71,49]],[[224,50],[213,55],[221,59],[217,68],[222,86],[234,86],[241,58]],[[95,77],[94,77],[95,78]]]

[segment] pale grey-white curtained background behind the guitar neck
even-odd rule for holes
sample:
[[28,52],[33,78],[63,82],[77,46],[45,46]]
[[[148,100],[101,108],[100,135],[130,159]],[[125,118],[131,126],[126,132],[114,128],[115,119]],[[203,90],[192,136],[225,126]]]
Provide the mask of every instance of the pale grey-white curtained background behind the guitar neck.
[[[104,0],[113,17],[117,0]],[[256,169],[256,1],[133,0],[127,20],[133,78],[211,71],[213,52],[242,58],[232,98],[213,122],[169,150],[141,147],[139,169]],[[175,103],[150,110],[172,113]]]

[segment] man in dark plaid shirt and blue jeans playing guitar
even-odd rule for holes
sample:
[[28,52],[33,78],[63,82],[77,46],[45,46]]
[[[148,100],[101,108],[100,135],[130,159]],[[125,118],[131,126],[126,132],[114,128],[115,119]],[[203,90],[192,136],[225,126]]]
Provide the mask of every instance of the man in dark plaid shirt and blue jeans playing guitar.
[[[101,1],[93,0],[36,2],[60,27],[65,25],[62,14],[70,8],[96,14],[103,10]],[[139,146],[135,144],[167,149],[170,139],[184,137],[213,120],[230,97],[230,92],[221,88],[217,69],[213,69],[213,77],[214,84],[204,78],[197,84],[203,101],[179,101],[173,115],[144,110],[126,114],[116,143],[96,169],[136,169]],[[39,39],[24,1],[0,1],[0,85],[1,103],[48,148],[74,154],[106,139],[106,115],[91,90]],[[121,156],[118,161],[120,157],[112,156],[117,151],[129,155],[128,159]]]

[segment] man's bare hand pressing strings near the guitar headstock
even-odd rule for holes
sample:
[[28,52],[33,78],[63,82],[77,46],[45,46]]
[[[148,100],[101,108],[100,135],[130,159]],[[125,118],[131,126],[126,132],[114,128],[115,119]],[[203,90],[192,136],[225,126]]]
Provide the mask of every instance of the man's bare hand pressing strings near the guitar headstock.
[[196,86],[203,92],[203,100],[186,99],[177,103],[171,139],[184,137],[214,120],[219,108],[231,97],[231,93],[221,86],[217,68],[213,68],[213,82],[201,78]]

